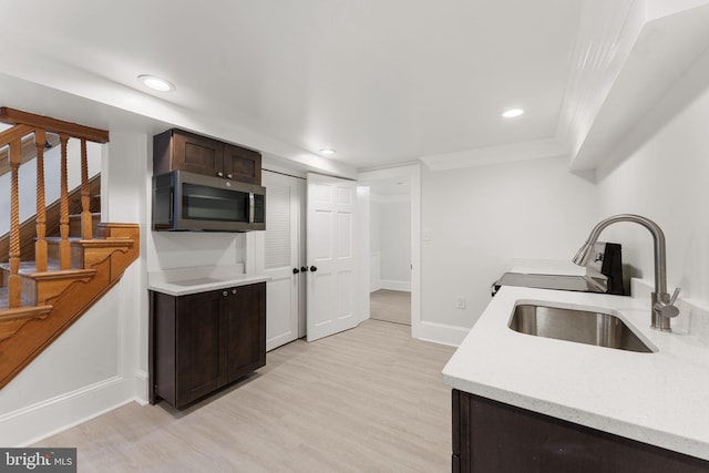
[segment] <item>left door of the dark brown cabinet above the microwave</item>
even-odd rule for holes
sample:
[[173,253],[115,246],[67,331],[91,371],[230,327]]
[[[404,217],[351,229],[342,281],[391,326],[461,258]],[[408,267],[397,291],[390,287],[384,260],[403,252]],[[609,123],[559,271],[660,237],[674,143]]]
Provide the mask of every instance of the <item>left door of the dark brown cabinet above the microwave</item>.
[[224,169],[224,147],[222,143],[203,136],[175,132],[175,155],[173,167],[189,173],[210,176]]

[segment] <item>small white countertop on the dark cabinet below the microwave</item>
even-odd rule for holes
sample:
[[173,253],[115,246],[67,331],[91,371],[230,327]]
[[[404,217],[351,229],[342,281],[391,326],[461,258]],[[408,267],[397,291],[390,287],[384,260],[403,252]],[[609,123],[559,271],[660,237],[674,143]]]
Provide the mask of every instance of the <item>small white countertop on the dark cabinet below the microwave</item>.
[[242,265],[197,266],[148,273],[147,288],[169,296],[186,296],[269,280],[268,276],[244,274]]

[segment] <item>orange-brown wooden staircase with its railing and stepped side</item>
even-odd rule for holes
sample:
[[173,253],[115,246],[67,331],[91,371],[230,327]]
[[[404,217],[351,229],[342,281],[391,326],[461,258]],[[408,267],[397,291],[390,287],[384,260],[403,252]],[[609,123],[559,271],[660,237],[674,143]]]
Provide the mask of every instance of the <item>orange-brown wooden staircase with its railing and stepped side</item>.
[[[0,264],[0,388],[63,333],[121,278],[140,254],[136,224],[99,224],[94,238],[90,209],[86,142],[106,143],[109,133],[75,123],[0,107],[0,121],[14,126],[0,132],[0,157],[10,167],[8,261]],[[61,144],[59,238],[47,236],[44,148],[48,133]],[[21,260],[19,167],[23,142],[37,148],[34,261]],[[68,142],[81,141],[80,235],[70,238]]]

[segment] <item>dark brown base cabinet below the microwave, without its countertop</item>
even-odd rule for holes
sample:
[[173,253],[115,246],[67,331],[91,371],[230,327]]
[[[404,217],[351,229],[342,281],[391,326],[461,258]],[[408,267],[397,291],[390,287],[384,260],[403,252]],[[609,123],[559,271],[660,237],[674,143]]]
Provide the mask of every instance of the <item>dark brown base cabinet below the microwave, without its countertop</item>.
[[266,364],[266,282],[151,299],[151,402],[182,409]]

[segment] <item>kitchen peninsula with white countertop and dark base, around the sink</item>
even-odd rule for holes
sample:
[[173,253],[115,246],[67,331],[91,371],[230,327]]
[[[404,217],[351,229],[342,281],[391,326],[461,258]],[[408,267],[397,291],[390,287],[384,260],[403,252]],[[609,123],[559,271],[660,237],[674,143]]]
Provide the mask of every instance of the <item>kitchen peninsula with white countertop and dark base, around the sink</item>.
[[[709,343],[650,330],[648,301],[503,287],[443,370],[454,471],[707,471]],[[517,304],[612,312],[653,352],[518,333]]]

